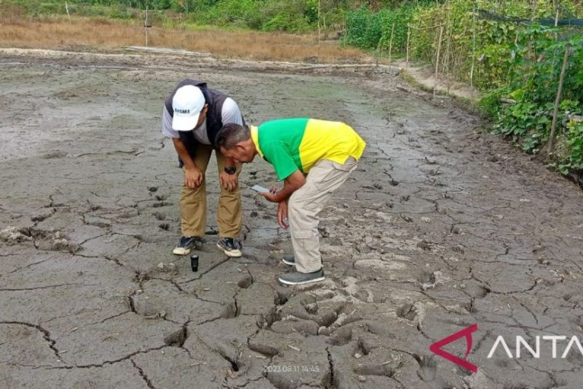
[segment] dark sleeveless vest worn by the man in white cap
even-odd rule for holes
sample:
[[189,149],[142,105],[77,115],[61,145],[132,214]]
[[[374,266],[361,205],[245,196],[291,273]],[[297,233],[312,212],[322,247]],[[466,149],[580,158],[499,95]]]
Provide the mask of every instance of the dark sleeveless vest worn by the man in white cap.
[[[223,103],[227,99],[226,94],[219,92],[215,89],[208,89],[206,87],[206,82],[192,79],[184,79],[178,83],[174,88],[172,93],[166,98],[164,104],[166,104],[166,109],[170,113],[171,117],[174,117],[174,109],[172,108],[172,99],[176,91],[185,85],[194,85],[201,89],[203,96],[205,96],[206,104],[208,104],[208,110],[206,111],[206,135],[209,138],[210,144],[214,149],[217,149],[216,141],[217,135],[219,135],[220,129],[223,127]],[[243,123],[245,121],[243,120]],[[182,143],[186,146],[189,155],[194,159],[196,150],[196,139],[194,138],[194,131],[178,131]],[[180,166],[182,167],[182,161],[180,161]]]

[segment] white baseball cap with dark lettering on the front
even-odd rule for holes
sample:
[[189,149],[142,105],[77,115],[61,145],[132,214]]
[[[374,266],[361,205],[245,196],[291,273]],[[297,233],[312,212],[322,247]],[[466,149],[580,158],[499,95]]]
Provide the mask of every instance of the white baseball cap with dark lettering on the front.
[[175,131],[191,131],[198,123],[198,117],[205,106],[205,96],[201,89],[194,85],[178,88],[172,99],[172,129]]

